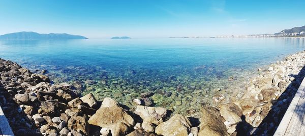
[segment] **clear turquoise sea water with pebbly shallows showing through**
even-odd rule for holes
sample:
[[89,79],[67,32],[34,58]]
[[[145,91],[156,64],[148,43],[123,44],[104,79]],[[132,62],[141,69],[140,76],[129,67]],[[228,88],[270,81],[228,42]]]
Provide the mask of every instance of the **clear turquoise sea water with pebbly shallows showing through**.
[[[304,38],[102,39],[0,41],[0,57],[32,72],[42,69],[54,82],[82,86],[98,99],[113,97],[132,106],[151,91],[154,106],[190,112],[234,94],[232,85],[258,67],[305,49]],[[86,80],[95,84],[86,84]],[[218,88],[221,91],[216,91]],[[242,91],[242,90],[241,90]],[[169,95],[170,93],[171,95]],[[166,93],[166,95],[165,95]]]

